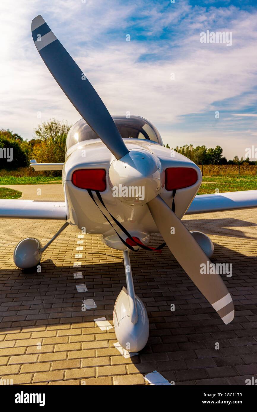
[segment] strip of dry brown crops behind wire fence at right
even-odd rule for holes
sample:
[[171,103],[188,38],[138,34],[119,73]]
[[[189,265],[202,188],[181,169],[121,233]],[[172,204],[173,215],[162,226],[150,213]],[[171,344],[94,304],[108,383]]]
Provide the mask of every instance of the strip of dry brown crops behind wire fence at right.
[[198,164],[203,176],[257,176],[256,164]]

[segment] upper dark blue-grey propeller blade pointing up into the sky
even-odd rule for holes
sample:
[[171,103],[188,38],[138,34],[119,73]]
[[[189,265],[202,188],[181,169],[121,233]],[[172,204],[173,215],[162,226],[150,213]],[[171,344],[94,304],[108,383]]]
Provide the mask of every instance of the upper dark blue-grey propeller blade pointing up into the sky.
[[31,23],[32,37],[45,65],[102,142],[120,159],[128,153],[116,124],[84,73],[50,30],[42,16]]

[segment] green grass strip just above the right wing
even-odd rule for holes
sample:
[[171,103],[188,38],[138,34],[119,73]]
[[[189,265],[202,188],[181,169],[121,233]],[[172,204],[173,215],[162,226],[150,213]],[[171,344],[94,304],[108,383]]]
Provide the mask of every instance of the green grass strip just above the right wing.
[[[203,183],[197,194],[222,192],[238,192],[241,190],[257,190],[257,176],[203,176]],[[219,193],[218,192],[218,193]]]

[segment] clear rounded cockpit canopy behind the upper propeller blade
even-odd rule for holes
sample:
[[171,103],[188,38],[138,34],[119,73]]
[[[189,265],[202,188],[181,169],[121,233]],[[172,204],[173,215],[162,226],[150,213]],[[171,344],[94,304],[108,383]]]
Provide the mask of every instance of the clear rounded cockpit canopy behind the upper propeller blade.
[[[123,139],[146,139],[163,145],[160,133],[148,120],[139,116],[113,116],[113,120]],[[84,119],[78,120],[68,132],[66,139],[66,150],[78,142],[84,140],[98,139],[91,127]]]

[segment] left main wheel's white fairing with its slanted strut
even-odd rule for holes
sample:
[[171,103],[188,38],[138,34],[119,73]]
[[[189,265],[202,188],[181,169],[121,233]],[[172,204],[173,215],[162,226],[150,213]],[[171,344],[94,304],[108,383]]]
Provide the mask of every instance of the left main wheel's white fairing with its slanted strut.
[[40,240],[34,237],[27,237],[21,240],[14,249],[13,260],[20,269],[30,269],[40,263],[42,253],[45,249],[59,236],[59,234],[69,225],[65,222],[61,229],[52,237],[52,239],[42,247]]

